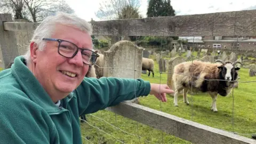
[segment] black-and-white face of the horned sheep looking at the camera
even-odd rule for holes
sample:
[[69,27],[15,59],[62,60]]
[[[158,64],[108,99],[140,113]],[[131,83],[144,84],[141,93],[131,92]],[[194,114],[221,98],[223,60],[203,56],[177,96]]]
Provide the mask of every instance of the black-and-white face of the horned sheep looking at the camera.
[[224,66],[220,66],[219,69],[221,69],[221,72],[220,72],[221,79],[225,79],[227,81],[234,81],[237,78],[236,70],[239,70],[240,68],[234,67],[231,63],[227,63]]

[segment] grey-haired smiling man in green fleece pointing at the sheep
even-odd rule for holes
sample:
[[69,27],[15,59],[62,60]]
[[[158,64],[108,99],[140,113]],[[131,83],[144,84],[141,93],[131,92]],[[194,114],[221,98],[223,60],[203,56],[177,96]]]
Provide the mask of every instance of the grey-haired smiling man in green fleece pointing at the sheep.
[[36,28],[28,52],[0,73],[0,143],[82,143],[79,116],[131,100],[134,93],[166,102],[165,93],[173,93],[167,85],[84,77],[98,57],[91,32],[89,23],[65,13]]

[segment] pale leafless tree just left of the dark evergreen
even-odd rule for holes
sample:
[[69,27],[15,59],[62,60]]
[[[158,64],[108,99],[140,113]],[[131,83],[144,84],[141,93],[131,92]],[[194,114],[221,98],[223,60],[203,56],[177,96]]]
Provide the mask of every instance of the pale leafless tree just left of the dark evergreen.
[[118,19],[118,16],[127,6],[138,10],[141,5],[141,0],[105,0],[100,3],[99,10],[95,13],[98,18],[106,20]]

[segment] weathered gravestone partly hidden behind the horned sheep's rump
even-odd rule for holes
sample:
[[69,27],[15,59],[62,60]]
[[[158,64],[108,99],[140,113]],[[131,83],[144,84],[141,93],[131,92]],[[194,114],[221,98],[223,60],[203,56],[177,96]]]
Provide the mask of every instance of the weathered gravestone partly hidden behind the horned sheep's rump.
[[[172,81],[172,75],[173,75],[173,70],[174,70],[174,66],[178,65],[181,62],[185,62],[186,60],[182,57],[174,57],[171,58],[169,60],[169,64],[168,64],[168,71],[167,71],[167,85],[170,87],[170,89],[172,89],[173,91],[175,91],[175,87]],[[170,94],[170,95],[174,95],[174,93]]]

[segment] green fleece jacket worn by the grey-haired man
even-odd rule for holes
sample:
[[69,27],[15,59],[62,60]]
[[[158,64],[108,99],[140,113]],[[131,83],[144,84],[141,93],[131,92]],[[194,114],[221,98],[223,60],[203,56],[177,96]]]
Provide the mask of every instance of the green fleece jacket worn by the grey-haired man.
[[79,116],[150,92],[142,79],[85,77],[58,107],[22,56],[0,72],[0,87],[0,143],[82,143]]

